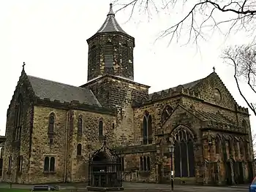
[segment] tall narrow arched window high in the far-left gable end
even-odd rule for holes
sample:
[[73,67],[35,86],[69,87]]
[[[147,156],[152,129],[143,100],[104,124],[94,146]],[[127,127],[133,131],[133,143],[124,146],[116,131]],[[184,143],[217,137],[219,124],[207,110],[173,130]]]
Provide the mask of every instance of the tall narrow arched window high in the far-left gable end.
[[18,96],[15,106],[15,140],[20,139],[21,125],[23,120],[23,98],[21,94]]

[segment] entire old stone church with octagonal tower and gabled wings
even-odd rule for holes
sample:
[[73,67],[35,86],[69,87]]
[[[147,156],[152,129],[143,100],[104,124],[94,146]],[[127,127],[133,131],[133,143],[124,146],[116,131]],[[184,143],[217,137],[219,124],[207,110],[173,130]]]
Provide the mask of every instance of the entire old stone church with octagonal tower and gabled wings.
[[88,180],[89,155],[107,145],[121,155],[131,182],[232,185],[252,180],[252,135],[239,106],[214,71],[148,93],[134,81],[135,38],[110,11],[87,40],[88,80],[79,87],[26,74],[23,66],[7,110],[2,180]]

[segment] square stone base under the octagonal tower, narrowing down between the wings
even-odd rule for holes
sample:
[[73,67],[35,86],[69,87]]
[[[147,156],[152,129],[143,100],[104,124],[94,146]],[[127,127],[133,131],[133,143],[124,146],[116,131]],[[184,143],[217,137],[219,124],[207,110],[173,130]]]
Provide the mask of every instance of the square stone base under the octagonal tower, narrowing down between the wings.
[[90,88],[104,107],[116,108],[116,145],[135,145],[132,104],[148,97],[148,86],[105,76],[83,85]]

